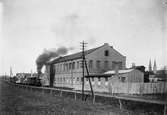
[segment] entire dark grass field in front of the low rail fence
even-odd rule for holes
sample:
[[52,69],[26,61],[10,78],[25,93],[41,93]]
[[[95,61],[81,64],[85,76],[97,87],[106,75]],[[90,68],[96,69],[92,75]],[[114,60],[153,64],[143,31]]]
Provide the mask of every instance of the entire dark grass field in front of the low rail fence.
[[[98,101],[99,100],[99,101]],[[101,104],[101,102],[104,102]],[[0,115],[161,115],[162,107],[123,101],[126,110],[119,109],[117,100],[97,97],[96,104],[65,95],[16,88],[0,82]]]

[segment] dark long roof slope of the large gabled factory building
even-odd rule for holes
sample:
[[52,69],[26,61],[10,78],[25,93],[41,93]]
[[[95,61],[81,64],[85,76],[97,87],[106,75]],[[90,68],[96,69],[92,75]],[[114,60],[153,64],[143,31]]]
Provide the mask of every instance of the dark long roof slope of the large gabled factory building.
[[[95,50],[97,50],[97,49],[99,49],[101,47],[102,46],[86,50],[85,51],[85,55],[88,55],[88,54],[94,52]],[[58,62],[74,60],[74,59],[80,59],[80,58],[82,58],[82,52],[78,52],[78,53],[75,53],[75,54],[67,55],[67,56],[64,56],[64,57],[55,58],[54,60],[49,61],[48,63],[50,63],[50,64],[52,63],[53,64],[53,63],[58,63]]]

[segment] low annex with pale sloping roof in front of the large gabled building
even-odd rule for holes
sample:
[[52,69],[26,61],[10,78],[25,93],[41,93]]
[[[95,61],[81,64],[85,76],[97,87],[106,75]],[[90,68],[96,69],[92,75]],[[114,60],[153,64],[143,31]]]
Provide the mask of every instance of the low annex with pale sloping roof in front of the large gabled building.
[[[92,81],[93,90],[96,92],[109,92],[113,85],[120,83],[144,83],[144,73],[138,69],[107,71],[103,74],[91,74],[86,77],[86,90],[90,90],[88,78]],[[123,90],[123,87],[121,88]]]

